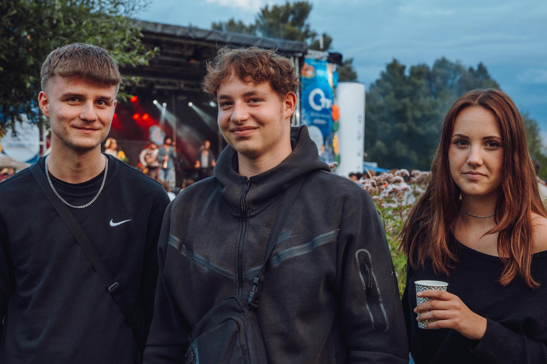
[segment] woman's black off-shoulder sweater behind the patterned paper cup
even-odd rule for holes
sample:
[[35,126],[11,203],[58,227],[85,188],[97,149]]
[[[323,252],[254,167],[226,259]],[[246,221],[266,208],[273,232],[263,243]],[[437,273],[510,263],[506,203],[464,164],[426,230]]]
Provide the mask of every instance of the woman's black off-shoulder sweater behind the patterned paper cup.
[[[416,364],[547,363],[547,251],[533,256],[532,277],[542,283],[539,289],[527,287],[522,278],[503,287],[498,282],[503,263],[497,256],[451,239],[458,261],[449,277],[435,275],[430,261],[417,271],[408,264],[402,300]],[[448,292],[487,319],[484,337],[472,340],[452,329],[418,328],[414,282],[421,280],[449,283]]]

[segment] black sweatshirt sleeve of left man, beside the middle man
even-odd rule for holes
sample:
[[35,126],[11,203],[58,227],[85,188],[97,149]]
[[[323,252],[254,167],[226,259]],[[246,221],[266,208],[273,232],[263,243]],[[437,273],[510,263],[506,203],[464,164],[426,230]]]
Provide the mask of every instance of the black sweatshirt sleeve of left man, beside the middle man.
[[161,222],[170,199],[160,187],[148,217],[146,246],[144,247],[143,270],[141,276],[141,302],[144,308],[144,336],[148,336],[154,315],[154,297],[158,282],[158,240]]

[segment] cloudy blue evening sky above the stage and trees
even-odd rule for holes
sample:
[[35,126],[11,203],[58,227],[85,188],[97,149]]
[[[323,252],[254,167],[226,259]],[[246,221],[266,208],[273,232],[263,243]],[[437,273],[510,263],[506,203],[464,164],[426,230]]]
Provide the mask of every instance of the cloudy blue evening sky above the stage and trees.
[[[393,58],[410,66],[442,56],[465,66],[483,62],[521,112],[542,128],[547,145],[547,1],[317,0],[312,28],[353,57],[368,88]],[[142,20],[209,29],[230,17],[254,20],[265,0],[152,0]]]

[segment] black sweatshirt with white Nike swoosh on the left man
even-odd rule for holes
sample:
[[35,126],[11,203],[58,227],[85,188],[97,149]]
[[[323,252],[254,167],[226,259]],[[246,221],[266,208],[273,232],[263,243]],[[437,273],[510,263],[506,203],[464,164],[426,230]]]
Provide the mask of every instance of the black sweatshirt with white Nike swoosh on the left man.
[[[160,183],[108,160],[97,200],[69,210],[147,333],[169,198]],[[37,163],[44,170],[44,158]],[[80,184],[52,181],[69,204],[85,205],[103,176]],[[0,363],[141,361],[123,313],[29,169],[0,183],[0,330]]]

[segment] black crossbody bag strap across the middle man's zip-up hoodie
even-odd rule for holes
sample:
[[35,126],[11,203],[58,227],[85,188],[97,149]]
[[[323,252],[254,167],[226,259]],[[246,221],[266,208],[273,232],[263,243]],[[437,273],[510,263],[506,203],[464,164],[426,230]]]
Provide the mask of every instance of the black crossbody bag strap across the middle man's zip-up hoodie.
[[298,181],[292,184],[284,193],[283,199],[281,200],[281,205],[279,209],[277,210],[277,214],[274,220],[274,225],[272,225],[272,228],[270,230],[270,236],[268,237],[268,242],[266,244],[266,255],[264,257],[264,264],[262,268],[260,268],[260,272],[258,273],[258,276],[254,278],[253,281],[253,288],[251,289],[251,293],[249,294],[248,304],[249,307],[252,307],[254,309],[258,308],[258,303],[260,301],[259,299],[259,291],[261,290],[261,287],[264,285],[264,271],[266,269],[266,262],[268,259],[270,259],[271,253],[274,251],[275,244],[277,243],[277,240],[279,236],[281,235],[281,230],[283,229],[283,226],[285,225],[285,222],[287,221],[287,217],[289,216],[290,209],[293,207],[294,200],[296,199],[296,195],[298,195],[298,192],[300,191],[300,187],[302,187],[302,183],[304,183],[304,180],[306,178],[306,175],[301,176]]

